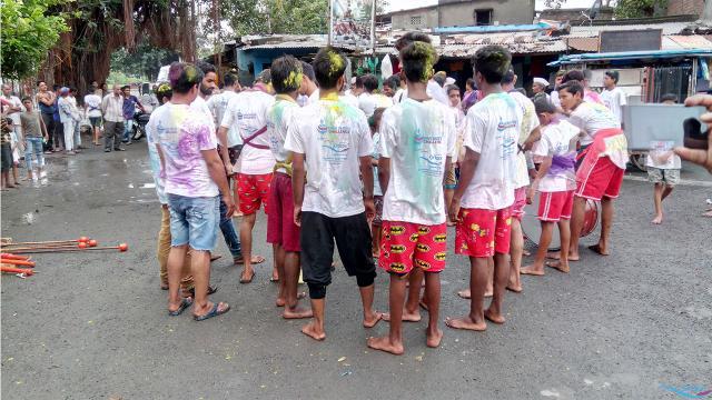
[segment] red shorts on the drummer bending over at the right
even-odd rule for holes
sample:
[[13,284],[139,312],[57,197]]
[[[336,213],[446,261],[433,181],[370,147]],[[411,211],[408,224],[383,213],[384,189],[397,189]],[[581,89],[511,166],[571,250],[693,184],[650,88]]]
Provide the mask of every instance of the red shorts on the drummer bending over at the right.
[[621,191],[625,170],[619,168],[607,157],[599,157],[595,164],[576,172],[576,196],[600,201],[602,197],[615,199]]

